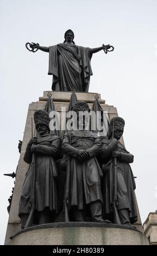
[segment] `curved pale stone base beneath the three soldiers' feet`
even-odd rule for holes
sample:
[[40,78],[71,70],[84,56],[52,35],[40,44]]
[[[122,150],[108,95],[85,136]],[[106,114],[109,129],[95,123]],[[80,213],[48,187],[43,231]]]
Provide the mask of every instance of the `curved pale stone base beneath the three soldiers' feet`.
[[149,245],[147,237],[135,228],[95,222],[36,225],[11,239],[11,245]]

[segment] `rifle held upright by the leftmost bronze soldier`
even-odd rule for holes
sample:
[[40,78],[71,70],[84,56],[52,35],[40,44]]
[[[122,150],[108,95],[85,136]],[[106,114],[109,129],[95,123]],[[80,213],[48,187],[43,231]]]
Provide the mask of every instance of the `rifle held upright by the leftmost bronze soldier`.
[[[32,138],[33,138],[33,118],[32,118]],[[31,171],[33,172],[33,182],[32,182],[32,202],[29,204],[30,208],[30,213],[29,217],[27,219],[27,222],[24,226],[24,228],[29,228],[32,227],[33,225],[33,217],[34,217],[34,211],[35,211],[35,190],[36,190],[36,170],[35,170],[35,154],[32,154],[32,169]]]

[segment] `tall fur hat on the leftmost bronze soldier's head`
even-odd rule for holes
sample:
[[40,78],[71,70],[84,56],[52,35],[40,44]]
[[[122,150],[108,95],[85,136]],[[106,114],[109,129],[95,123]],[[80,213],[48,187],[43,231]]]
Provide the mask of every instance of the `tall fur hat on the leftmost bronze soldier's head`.
[[34,123],[35,126],[43,124],[49,128],[49,115],[45,110],[37,110],[34,112]]

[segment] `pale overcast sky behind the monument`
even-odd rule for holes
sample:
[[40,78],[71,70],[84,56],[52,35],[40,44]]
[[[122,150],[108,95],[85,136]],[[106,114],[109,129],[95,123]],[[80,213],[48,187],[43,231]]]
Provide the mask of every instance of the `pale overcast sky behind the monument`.
[[28,52],[27,41],[50,46],[64,41],[71,28],[77,45],[114,45],[93,54],[89,92],[117,107],[125,120],[125,147],[134,155],[136,197],[142,222],[157,209],[156,86],[157,1],[155,0],[8,0],[0,1],[1,34],[1,235],[8,222],[14,185],[3,173],[15,172],[18,140],[23,139],[28,105],[51,90],[48,53]]

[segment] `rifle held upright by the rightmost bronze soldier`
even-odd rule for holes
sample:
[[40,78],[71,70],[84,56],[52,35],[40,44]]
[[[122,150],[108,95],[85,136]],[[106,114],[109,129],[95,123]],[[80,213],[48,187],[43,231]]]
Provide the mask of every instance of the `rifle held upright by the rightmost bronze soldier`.
[[[112,128],[112,138],[114,138],[114,120],[113,120],[113,128]],[[117,202],[117,157],[114,157],[114,200],[111,203],[114,209],[114,223],[121,225],[120,216],[118,215],[118,202]]]

